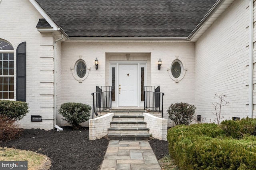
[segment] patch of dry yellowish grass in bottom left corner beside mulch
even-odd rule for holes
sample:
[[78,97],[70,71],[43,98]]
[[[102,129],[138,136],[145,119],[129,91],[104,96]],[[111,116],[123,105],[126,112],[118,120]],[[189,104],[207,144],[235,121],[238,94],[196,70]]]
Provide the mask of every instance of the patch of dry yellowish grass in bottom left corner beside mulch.
[[27,150],[0,147],[1,161],[28,161],[28,170],[49,169],[50,160],[47,156]]

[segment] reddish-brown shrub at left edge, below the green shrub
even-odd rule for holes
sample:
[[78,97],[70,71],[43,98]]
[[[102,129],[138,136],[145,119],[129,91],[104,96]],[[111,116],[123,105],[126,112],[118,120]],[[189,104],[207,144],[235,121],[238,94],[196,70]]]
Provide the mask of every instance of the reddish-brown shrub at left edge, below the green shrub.
[[16,138],[21,132],[15,121],[6,115],[0,115],[0,141],[8,141]]

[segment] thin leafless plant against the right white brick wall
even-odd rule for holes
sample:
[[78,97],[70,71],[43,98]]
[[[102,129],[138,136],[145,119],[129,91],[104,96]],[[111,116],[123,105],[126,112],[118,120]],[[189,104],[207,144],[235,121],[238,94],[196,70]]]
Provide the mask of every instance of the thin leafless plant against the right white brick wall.
[[227,97],[226,95],[218,95],[218,94],[215,94],[215,97],[214,98],[218,98],[220,99],[219,102],[215,102],[215,103],[212,103],[213,107],[214,107],[214,112],[212,112],[213,115],[216,116],[216,119],[215,121],[217,121],[217,124],[219,125],[220,124],[220,120],[223,119],[224,117],[220,117],[221,115],[221,108],[225,105],[229,105],[228,101],[225,100],[225,97]]

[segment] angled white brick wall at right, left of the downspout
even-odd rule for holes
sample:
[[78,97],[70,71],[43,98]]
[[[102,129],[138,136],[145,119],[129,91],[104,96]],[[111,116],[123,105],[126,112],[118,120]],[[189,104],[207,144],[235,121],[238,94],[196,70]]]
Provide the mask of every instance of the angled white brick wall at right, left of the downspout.
[[235,0],[196,42],[196,113],[203,122],[216,118],[216,93],[229,101],[222,107],[224,119],[248,116],[248,5]]

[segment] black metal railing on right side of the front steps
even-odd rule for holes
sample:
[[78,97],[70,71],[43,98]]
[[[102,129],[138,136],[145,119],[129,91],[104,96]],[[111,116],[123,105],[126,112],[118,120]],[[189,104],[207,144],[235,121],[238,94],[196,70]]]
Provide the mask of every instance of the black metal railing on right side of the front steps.
[[144,110],[162,113],[163,118],[163,96],[160,86],[144,86]]

